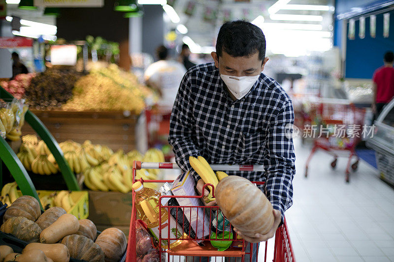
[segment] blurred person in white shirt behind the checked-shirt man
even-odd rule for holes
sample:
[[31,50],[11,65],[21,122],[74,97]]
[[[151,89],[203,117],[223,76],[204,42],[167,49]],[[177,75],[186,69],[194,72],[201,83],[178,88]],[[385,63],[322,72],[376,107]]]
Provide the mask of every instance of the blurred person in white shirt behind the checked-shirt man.
[[168,49],[165,46],[159,46],[156,54],[159,61],[146,69],[145,83],[160,93],[160,106],[172,107],[186,69],[181,63],[168,59]]

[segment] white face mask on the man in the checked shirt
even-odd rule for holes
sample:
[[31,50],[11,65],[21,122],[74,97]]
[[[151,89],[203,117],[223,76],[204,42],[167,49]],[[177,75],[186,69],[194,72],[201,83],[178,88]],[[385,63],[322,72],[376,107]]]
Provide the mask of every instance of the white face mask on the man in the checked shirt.
[[220,77],[225,82],[226,86],[229,87],[230,92],[235,96],[236,99],[244,97],[250,89],[255,85],[259,79],[260,74],[257,76],[228,76],[220,74]]

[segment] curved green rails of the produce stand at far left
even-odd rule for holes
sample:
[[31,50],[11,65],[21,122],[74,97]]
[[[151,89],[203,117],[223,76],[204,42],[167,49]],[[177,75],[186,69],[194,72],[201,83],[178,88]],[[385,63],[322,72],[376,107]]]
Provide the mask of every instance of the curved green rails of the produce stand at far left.
[[[0,87],[0,98],[4,100],[11,100],[13,96]],[[59,165],[60,172],[66,182],[68,190],[80,190],[75,175],[71,172],[71,169],[63,156],[62,149],[56,142],[52,134],[44,126],[41,120],[35,116],[30,110],[26,112],[25,122],[30,124],[38,136],[45,142],[49,150],[53,154],[56,162]],[[29,195],[36,198],[39,202],[37,192],[33,185],[33,182],[28,175],[25,167],[22,165],[15,152],[8,145],[8,143],[0,137],[0,158],[7,166],[11,175],[14,177],[23,195]],[[0,169],[1,172],[1,169]],[[2,179],[2,174],[0,174]],[[2,182],[2,181],[1,181]]]

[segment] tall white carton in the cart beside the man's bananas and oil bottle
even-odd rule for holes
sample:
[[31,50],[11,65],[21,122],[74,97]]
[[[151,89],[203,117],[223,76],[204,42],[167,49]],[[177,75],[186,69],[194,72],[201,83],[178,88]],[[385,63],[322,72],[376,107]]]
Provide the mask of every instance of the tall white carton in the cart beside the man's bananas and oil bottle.
[[[190,172],[185,172],[179,175],[174,183],[172,184],[172,194],[174,196],[195,196],[196,191],[196,181]],[[185,216],[189,220],[197,238],[203,238],[209,235],[209,224],[210,220],[207,212],[205,212],[201,207],[196,207],[202,205],[197,198],[176,198],[180,206],[194,206],[185,207]]]

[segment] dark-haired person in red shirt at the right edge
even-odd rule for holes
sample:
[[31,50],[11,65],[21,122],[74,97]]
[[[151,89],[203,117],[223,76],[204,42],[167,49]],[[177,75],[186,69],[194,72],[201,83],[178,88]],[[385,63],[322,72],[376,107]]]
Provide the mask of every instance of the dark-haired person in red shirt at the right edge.
[[[372,112],[375,120],[382,109],[394,97],[394,54],[392,51],[386,52],[384,56],[384,65],[376,69],[373,74],[373,103]],[[372,123],[373,123],[372,120]]]

